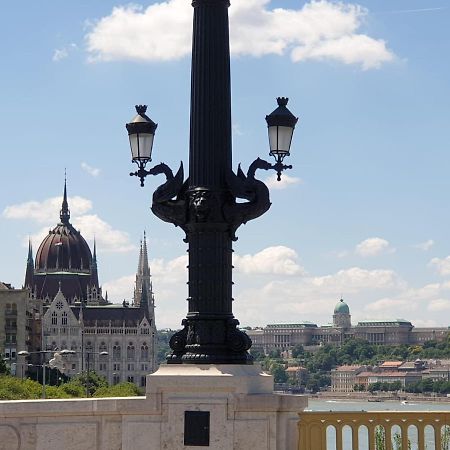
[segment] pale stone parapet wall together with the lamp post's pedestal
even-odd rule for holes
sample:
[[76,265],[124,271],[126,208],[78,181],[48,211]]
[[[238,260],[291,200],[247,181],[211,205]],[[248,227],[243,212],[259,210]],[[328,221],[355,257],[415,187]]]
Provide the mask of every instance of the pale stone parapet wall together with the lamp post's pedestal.
[[168,365],[145,397],[0,401],[0,450],[297,450],[307,399],[272,386],[257,365]]

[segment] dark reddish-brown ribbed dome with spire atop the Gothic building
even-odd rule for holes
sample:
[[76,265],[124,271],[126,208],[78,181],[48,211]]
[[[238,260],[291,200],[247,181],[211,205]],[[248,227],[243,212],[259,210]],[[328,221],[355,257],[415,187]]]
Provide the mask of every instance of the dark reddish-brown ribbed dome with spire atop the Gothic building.
[[25,287],[46,303],[61,290],[70,304],[80,301],[106,304],[98,284],[95,243],[92,255],[84,237],[70,223],[65,182],[59,217],[59,223],[41,242],[35,261],[29,245]]

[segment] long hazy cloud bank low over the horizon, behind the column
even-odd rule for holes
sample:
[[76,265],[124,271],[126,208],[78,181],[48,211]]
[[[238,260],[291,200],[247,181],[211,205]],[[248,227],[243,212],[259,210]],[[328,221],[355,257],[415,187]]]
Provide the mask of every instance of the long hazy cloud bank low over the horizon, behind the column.
[[[235,255],[233,310],[243,325],[305,320],[325,324],[332,321],[340,295],[350,306],[353,323],[403,318],[416,326],[445,325],[450,282],[411,288],[396,272],[382,268],[311,275],[298,261],[297,253],[283,246]],[[159,327],[178,327],[186,315],[187,262],[186,255],[150,261]],[[108,281],[103,288],[110,300],[131,300],[133,283],[134,274]]]

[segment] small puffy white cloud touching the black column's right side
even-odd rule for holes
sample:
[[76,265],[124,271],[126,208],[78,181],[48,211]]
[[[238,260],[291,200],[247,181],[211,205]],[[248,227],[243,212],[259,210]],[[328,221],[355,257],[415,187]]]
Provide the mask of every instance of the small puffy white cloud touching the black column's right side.
[[280,245],[254,255],[233,254],[233,265],[237,272],[245,274],[301,275],[304,271],[297,259],[294,250]]

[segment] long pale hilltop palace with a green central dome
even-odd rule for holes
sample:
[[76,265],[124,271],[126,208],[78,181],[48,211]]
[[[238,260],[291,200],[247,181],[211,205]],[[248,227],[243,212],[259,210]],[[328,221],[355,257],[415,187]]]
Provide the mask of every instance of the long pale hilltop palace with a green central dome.
[[349,338],[364,339],[378,345],[423,344],[430,340],[444,340],[449,328],[415,328],[403,319],[364,320],[352,325],[350,308],[340,299],[333,311],[332,324],[318,326],[307,321],[269,324],[246,332],[252,339],[252,348],[267,354],[272,350],[287,351],[296,345],[341,345]]

